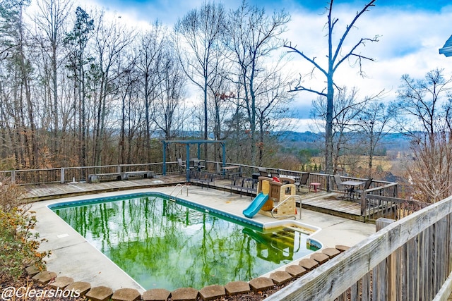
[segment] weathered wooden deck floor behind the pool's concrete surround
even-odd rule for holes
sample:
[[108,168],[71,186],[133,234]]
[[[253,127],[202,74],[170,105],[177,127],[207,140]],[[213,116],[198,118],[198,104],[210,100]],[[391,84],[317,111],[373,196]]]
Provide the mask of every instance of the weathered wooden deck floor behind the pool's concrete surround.
[[[161,187],[177,185],[178,183],[185,183],[185,178],[177,175],[157,176],[156,178],[139,180],[117,180],[102,183],[27,185],[25,186],[25,199],[27,199],[28,202],[36,202],[44,199],[58,199],[61,197],[90,195],[101,192]],[[219,190],[227,190],[225,188],[227,183],[230,183],[230,180],[216,180],[215,185],[210,185],[210,188],[215,187]],[[246,193],[243,194],[246,195]],[[309,192],[307,188],[302,188],[302,192],[297,192],[297,194],[302,197],[302,208],[340,216],[345,219],[364,221],[361,216],[361,205],[357,202],[338,199],[338,197],[340,197],[340,194],[338,193],[328,193],[324,190]]]

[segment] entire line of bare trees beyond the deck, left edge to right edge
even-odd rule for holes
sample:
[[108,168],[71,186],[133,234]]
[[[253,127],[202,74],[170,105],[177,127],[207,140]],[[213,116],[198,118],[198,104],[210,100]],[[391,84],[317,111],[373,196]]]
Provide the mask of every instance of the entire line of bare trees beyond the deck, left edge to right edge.
[[[355,176],[373,177],[385,136],[403,133],[415,158],[406,166],[413,195],[436,202],[452,194],[452,78],[441,68],[422,79],[401,75],[391,102],[384,91],[359,97],[328,72],[328,93],[316,93],[283,72],[287,49],[303,54],[282,40],[284,11],[208,2],[171,28],[133,28],[71,0],[33,4],[0,0],[1,169],[155,162],[161,140],[191,138],[226,140],[230,162],[300,170],[319,154],[278,137],[292,127],[292,90],[318,96],[311,125],[324,134],[311,148],[322,150],[317,166],[326,172],[354,173],[350,158],[359,154],[367,167]],[[326,42],[332,35],[319,32]],[[340,56],[343,39],[335,40],[340,63],[355,49]],[[167,149],[168,160],[185,156],[184,145]],[[222,152],[210,146],[201,157],[221,161]]]

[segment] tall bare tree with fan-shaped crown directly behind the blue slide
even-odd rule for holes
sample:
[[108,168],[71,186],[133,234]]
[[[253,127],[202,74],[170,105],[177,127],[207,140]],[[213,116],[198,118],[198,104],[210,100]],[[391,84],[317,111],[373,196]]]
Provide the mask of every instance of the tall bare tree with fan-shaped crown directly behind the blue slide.
[[231,77],[241,90],[237,96],[242,99],[249,123],[251,164],[257,163],[258,97],[261,89],[267,89],[261,86],[268,75],[264,62],[282,45],[279,37],[289,20],[284,11],[267,16],[263,8],[249,6],[246,1],[228,18],[225,43],[234,64]]

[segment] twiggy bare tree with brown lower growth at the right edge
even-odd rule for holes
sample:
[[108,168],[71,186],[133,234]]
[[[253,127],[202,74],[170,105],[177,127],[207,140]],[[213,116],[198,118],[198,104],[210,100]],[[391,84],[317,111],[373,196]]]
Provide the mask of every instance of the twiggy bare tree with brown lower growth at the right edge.
[[400,133],[411,138],[413,197],[432,203],[452,193],[452,78],[443,72],[429,71],[421,80],[403,75],[396,103]]

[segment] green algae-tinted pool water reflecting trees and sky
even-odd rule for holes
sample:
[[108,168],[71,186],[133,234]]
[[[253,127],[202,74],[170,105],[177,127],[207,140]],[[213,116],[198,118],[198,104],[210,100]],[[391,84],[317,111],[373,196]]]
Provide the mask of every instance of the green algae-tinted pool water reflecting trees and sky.
[[263,232],[161,196],[50,208],[146,290],[249,281],[317,250],[293,228]]

